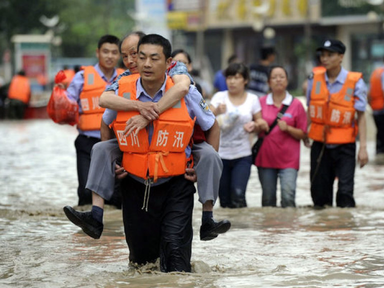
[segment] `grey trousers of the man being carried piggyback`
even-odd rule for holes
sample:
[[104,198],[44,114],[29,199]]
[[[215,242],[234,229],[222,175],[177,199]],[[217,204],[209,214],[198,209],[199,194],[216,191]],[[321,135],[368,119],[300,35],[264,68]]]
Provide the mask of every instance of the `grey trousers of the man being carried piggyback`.
[[[222,171],[218,153],[207,142],[192,146],[194,169],[197,175],[198,200],[205,203],[217,200]],[[90,154],[88,180],[85,188],[109,200],[114,190],[114,165],[121,163],[122,152],[117,139],[101,141],[93,145]]]

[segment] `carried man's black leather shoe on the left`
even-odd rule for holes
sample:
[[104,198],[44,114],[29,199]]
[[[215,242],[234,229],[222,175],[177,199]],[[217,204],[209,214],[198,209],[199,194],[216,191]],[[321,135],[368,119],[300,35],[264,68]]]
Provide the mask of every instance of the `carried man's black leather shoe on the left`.
[[68,219],[79,226],[85,234],[94,239],[100,238],[104,225],[92,217],[91,211],[79,212],[71,206],[65,206],[63,210]]

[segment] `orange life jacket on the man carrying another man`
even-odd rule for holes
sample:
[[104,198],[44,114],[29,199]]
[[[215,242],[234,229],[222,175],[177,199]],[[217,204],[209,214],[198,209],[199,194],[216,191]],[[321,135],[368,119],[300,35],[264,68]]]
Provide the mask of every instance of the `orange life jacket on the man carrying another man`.
[[[136,81],[139,74],[121,77],[118,85],[119,96],[136,99]],[[173,86],[167,76],[165,90]],[[184,99],[167,109],[152,122],[153,134],[149,143],[147,129],[141,129],[137,136],[131,133],[125,137],[125,122],[137,111],[118,111],[113,122],[113,130],[122,155],[122,166],[129,173],[140,178],[170,177],[185,173],[191,160],[185,156],[185,147],[190,143],[194,120],[189,116]]]

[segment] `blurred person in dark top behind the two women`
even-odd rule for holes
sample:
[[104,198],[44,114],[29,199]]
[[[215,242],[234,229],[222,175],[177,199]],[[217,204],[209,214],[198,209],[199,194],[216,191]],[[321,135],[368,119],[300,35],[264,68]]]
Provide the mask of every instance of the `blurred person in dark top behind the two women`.
[[248,89],[257,96],[263,96],[269,91],[268,72],[269,66],[274,62],[276,52],[274,47],[260,49],[260,61],[249,66]]

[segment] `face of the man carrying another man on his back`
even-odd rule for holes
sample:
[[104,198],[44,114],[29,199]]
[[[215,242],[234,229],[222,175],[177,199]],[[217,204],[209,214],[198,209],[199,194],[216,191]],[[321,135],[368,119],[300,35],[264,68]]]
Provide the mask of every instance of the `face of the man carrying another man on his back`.
[[172,58],[165,59],[162,46],[156,44],[141,44],[138,47],[137,67],[141,80],[148,82],[163,82],[166,68]]

